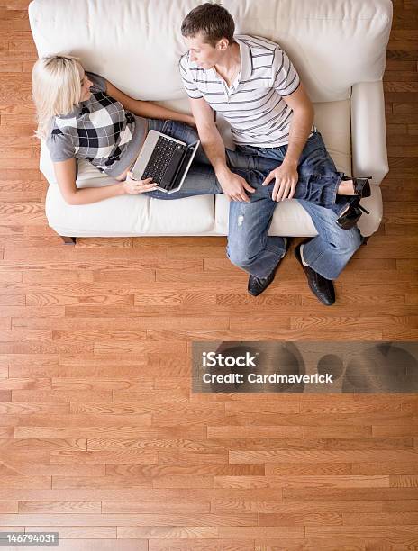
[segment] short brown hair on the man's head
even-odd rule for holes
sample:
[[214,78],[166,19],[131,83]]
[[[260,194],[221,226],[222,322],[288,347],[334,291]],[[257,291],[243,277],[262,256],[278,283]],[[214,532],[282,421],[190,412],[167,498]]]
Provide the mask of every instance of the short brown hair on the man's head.
[[195,7],[181,23],[183,36],[192,37],[202,32],[204,41],[212,46],[223,38],[228,39],[231,44],[234,31],[232,15],[222,5],[210,2]]

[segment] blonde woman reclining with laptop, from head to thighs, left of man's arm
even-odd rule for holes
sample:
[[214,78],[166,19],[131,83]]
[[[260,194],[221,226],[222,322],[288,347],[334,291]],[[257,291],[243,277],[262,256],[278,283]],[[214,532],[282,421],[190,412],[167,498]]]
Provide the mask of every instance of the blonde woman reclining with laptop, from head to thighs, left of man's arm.
[[[32,69],[32,97],[37,111],[36,135],[50,150],[59,189],[68,204],[86,204],[122,194],[150,193],[161,199],[221,194],[212,167],[196,155],[182,188],[164,194],[147,180],[132,180],[134,164],[153,128],[192,143],[197,134],[192,116],[132,99],[99,75],[86,72],[70,55],[39,59]],[[198,152],[199,153],[199,152]],[[77,158],[86,158],[114,184],[78,189]]]

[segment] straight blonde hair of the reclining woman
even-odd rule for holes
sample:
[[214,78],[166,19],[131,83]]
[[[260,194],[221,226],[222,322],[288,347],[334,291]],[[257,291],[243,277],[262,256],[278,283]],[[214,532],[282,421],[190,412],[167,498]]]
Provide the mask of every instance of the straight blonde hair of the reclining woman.
[[78,58],[54,55],[38,59],[32,68],[32,99],[38,128],[35,135],[45,139],[51,117],[73,111],[81,99]]

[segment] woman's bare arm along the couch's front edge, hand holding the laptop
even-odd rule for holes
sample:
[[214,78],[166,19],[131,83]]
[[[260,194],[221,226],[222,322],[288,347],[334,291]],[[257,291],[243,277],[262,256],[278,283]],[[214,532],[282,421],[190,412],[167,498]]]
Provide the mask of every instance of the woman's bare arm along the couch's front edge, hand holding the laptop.
[[144,192],[156,189],[151,178],[147,180],[132,180],[127,178],[124,182],[118,182],[104,187],[84,187],[78,189],[76,185],[77,161],[75,158],[68,158],[65,161],[54,163],[55,176],[64,200],[68,204],[96,203],[116,197],[117,195],[132,194],[139,195]]

